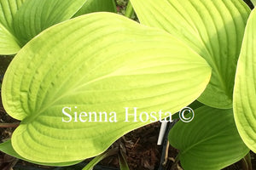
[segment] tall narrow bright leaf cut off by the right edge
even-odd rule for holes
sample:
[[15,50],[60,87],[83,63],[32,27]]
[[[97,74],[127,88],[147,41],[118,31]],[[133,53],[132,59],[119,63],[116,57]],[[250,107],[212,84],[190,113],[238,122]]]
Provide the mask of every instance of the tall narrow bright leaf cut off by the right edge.
[[234,89],[234,113],[241,139],[256,152],[256,9],[247,22]]

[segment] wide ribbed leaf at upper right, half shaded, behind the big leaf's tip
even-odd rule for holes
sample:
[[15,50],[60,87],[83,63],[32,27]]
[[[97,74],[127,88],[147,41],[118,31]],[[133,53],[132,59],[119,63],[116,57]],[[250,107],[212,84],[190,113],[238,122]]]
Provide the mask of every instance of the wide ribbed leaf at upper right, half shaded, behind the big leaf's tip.
[[140,22],[164,29],[207,60],[211,82],[199,101],[232,107],[236,62],[250,9],[241,0],[131,0]]

